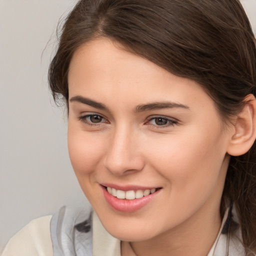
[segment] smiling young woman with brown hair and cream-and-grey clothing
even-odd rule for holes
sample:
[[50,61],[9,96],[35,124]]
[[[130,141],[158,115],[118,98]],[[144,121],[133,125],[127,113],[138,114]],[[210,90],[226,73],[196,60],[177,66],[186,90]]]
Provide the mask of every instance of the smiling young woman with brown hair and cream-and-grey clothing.
[[49,84],[93,212],[34,220],[3,255],[255,255],[255,70],[238,0],[80,0]]

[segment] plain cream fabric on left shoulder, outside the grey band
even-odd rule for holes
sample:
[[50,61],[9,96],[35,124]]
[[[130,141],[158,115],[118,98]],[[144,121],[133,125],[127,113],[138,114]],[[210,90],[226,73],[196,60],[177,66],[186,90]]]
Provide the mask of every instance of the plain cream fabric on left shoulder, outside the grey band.
[[51,216],[30,221],[5,246],[2,256],[51,256]]

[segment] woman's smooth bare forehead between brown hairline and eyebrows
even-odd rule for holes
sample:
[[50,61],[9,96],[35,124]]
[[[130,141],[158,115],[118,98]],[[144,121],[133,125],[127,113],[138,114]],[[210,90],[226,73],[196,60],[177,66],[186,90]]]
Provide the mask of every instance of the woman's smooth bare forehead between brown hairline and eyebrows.
[[[212,99],[194,81],[178,77],[153,62],[122,49],[107,38],[90,41],[73,54],[68,73],[69,97],[82,95],[101,102],[171,100],[191,104]],[[209,103],[208,102],[208,103]]]

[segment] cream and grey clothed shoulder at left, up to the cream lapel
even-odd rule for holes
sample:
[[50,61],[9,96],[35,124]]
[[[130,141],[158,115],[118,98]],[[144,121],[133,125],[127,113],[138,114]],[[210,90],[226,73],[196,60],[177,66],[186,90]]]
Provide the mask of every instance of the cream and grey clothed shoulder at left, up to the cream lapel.
[[92,255],[92,211],[61,207],[30,221],[5,246],[2,256]]

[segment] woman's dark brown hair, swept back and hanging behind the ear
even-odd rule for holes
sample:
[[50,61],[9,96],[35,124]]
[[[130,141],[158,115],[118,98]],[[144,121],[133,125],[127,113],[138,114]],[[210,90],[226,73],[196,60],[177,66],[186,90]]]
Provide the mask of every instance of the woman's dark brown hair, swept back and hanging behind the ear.
[[[74,51],[98,36],[173,74],[198,82],[224,120],[256,93],[256,46],[238,0],[80,0],[67,16],[48,73],[55,101],[68,106]],[[247,254],[256,252],[256,145],[231,157],[221,200],[234,202]]]

